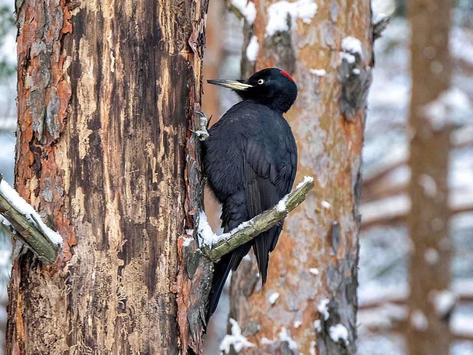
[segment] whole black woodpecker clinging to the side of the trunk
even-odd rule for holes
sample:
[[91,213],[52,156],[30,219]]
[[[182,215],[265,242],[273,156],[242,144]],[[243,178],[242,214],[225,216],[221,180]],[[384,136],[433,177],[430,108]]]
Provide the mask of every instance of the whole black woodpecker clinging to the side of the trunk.
[[[282,114],[297,97],[297,85],[285,71],[263,69],[247,80],[207,80],[234,90],[242,101],[209,130],[203,142],[207,183],[222,204],[224,232],[273,207],[291,191],[296,176],[297,147]],[[217,308],[230,270],[236,270],[253,247],[263,285],[269,252],[274,250],[283,221],[214,264],[207,321]]]

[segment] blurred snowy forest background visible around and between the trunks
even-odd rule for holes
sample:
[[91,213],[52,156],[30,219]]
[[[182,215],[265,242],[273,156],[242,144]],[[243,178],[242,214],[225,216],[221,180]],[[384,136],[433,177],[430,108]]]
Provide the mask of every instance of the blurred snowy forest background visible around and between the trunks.
[[[410,208],[407,194],[410,33],[403,1],[375,0],[373,12],[375,15],[387,13],[392,19],[383,36],[375,42],[376,62],[369,96],[361,205],[358,352],[360,355],[404,355],[407,354],[406,322],[422,327],[424,321],[422,314],[407,319],[406,308],[412,253],[405,222]],[[212,18],[217,20],[212,21]],[[436,109],[447,110],[462,125],[451,136],[448,172],[452,213],[449,242],[454,252],[447,260],[450,270],[446,269],[445,273],[450,274],[451,287],[437,302],[439,313],[443,312],[442,316],[449,320],[451,354],[473,355],[473,2],[458,0],[451,21],[448,50],[454,61],[452,89],[448,102]],[[216,24],[220,27],[212,28]],[[241,22],[223,1],[212,0],[207,26],[204,79],[239,77]],[[15,35],[13,1],[1,0],[0,172],[10,184],[14,177],[16,128]],[[228,91],[205,87],[203,110],[208,116],[220,117],[236,100]],[[428,179],[422,186],[430,191],[436,189]],[[214,230],[217,224],[215,221]],[[0,329],[3,331],[12,247],[1,229],[0,238]],[[432,263],[442,257],[441,250],[425,253],[426,260]],[[226,307],[228,302],[222,299],[220,313],[210,323],[205,354],[218,354],[227,328]],[[2,350],[4,336],[0,339]]]

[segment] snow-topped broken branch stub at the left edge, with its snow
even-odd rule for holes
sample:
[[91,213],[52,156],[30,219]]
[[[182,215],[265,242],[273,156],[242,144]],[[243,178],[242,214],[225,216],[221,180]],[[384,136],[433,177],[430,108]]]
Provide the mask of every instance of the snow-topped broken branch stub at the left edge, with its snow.
[[46,264],[53,262],[63,245],[61,235],[49,228],[33,206],[27,203],[0,174],[0,225],[20,240]]

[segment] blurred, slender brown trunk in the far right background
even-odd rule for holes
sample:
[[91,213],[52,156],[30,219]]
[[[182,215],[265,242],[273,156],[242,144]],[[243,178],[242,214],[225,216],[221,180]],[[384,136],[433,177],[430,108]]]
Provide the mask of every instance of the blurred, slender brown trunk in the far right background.
[[408,162],[412,206],[407,222],[413,253],[407,343],[411,355],[450,352],[449,310],[437,306],[439,297],[451,297],[447,185],[451,130],[448,126],[436,129],[426,108],[450,87],[448,36],[452,8],[453,0],[413,0],[408,6],[412,34]]

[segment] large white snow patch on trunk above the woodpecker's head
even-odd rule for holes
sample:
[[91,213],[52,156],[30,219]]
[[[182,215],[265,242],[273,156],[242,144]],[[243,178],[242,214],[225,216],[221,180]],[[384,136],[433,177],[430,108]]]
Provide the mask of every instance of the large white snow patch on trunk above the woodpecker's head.
[[[294,26],[297,19],[301,19],[305,24],[317,13],[317,4],[312,0],[298,0],[289,2],[278,1],[268,7],[268,23],[266,24],[265,36],[272,36],[276,32],[289,31],[290,26]],[[290,20],[288,21],[288,16]]]

